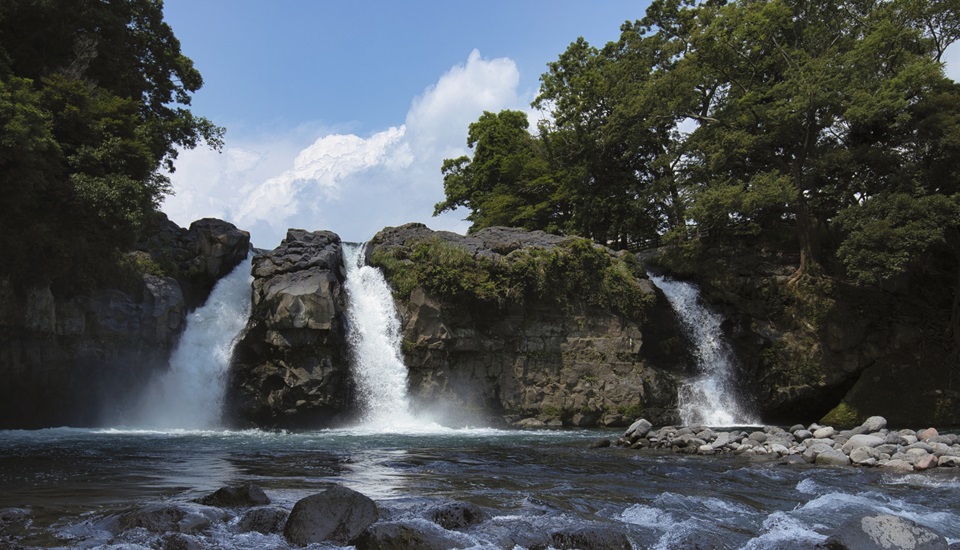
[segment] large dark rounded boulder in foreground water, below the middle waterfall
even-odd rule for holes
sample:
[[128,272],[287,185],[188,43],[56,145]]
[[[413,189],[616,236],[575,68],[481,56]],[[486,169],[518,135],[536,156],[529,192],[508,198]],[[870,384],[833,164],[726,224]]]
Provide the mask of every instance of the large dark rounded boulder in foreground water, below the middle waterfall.
[[352,544],[379,517],[369,497],[341,485],[300,499],[290,511],[283,536],[292,544]]

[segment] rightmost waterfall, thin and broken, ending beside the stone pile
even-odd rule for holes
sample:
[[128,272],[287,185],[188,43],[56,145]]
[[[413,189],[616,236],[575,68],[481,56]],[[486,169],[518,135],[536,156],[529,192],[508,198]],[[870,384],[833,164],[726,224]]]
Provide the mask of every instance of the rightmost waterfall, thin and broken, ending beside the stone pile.
[[758,424],[739,402],[732,377],[736,358],[724,338],[723,319],[700,300],[696,285],[650,275],[677,313],[694,346],[698,375],[680,387],[680,418],[685,425],[737,426]]

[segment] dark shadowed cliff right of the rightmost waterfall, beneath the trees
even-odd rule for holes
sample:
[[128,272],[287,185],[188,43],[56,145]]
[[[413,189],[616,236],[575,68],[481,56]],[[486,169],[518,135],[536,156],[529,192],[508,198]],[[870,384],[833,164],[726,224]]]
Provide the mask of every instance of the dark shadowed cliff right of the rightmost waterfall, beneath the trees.
[[944,281],[914,273],[882,289],[828,277],[790,283],[796,258],[731,247],[685,263],[663,252],[650,260],[696,280],[729,319],[742,383],[764,421],[960,424],[960,365],[937,328],[950,314]]

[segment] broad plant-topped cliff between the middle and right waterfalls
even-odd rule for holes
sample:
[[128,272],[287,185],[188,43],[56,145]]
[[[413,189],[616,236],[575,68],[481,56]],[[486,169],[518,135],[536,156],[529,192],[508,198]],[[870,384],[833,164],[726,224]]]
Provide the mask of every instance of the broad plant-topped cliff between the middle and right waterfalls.
[[672,313],[632,257],[542,232],[419,224],[385,229],[367,254],[394,286],[422,407],[525,426],[674,419],[685,357],[664,352]]

